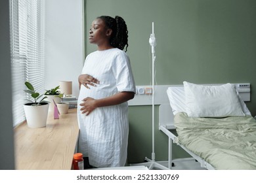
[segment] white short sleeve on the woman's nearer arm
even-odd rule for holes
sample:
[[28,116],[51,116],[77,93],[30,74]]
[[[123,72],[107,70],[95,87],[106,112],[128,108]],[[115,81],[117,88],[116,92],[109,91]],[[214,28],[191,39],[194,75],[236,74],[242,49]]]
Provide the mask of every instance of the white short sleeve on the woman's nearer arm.
[[135,80],[133,78],[129,56],[120,50],[117,52],[113,61],[112,69],[116,77],[116,87],[118,92],[136,93]]

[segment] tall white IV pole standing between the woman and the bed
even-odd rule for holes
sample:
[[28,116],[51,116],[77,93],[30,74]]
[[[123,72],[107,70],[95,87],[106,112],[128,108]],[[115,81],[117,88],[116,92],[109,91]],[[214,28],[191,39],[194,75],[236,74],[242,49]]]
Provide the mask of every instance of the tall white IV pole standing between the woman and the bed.
[[161,165],[160,163],[156,162],[155,158],[156,158],[156,154],[155,154],[155,137],[154,137],[154,123],[155,123],[155,119],[154,119],[154,114],[155,114],[155,110],[154,110],[154,63],[156,60],[156,56],[155,56],[155,46],[156,46],[156,37],[154,34],[154,22],[152,22],[152,34],[150,34],[150,39],[149,39],[149,43],[150,46],[152,47],[152,159],[149,158],[145,158],[146,163],[139,163],[137,165],[145,165],[146,167],[148,167],[148,169],[153,169],[154,167],[157,167],[158,169],[167,169],[169,170],[167,167]]

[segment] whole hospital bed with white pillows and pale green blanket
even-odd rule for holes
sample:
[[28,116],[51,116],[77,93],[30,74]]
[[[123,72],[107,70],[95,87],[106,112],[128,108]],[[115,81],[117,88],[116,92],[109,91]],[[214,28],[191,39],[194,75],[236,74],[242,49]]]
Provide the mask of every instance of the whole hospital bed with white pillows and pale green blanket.
[[[205,169],[256,169],[256,120],[237,89],[235,84],[188,82],[167,89],[169,105],[160,105],[159,128],[169,139],[169,169],[179,161],[172,157],[173,144],[181,146]],[[196,105],[203,105],[202,111]]]

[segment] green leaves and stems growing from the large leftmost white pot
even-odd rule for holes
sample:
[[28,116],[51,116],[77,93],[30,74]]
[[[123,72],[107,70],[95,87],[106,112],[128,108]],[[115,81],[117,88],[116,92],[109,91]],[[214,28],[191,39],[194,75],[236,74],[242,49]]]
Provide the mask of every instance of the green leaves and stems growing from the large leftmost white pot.
[[[33,100],[34,100],[34,101],[31,101],[31,100],[28,100],[28,99],[27,99],[28,101],[30,101],[31,103],[33,103],[32,105],[37,106],[37,105],[41,105],[41,103],[49,103],[48,101],[44,101],[44,99],[46,99],[47,96],[45,96],[45,97],[42,98],[43,94],[40,95],[40,93],[35,92],[35,89],[33,88],[33,85],[32,85],[30,82],[26,81],[26,82],[25,82],[25,85],[26,85],[26,87],[27,87],[28,89],[27,89],[27,90],[24,90],[24,92],[30,93],[31,97],[32,97]],[[41,98],[41,99],[40,99],[40,98]]]

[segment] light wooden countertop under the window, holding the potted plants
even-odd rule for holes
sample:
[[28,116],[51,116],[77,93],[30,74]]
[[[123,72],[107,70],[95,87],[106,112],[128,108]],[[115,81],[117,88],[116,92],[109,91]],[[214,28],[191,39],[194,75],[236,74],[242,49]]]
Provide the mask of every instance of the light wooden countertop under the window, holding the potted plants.
[[71,169],[79,135],[76,108],[54,120],[49,112],[47,126],[29,128],[26,122],[14,129],[16,169]]

